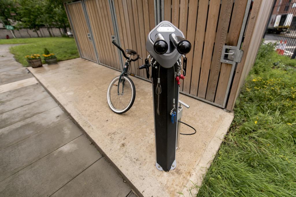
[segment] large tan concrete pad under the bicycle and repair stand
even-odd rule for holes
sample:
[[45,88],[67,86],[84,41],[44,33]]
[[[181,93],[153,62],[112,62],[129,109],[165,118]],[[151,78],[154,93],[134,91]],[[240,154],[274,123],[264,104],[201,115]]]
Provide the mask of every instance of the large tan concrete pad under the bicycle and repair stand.
[[[136,100],[127,113],[118,115],[106,99],[107,87],[118,71],[81,58],[29,69],[139,196],[178,196],[177,192],[188,196],[194,186],[190,180],[202,180],[233,119],[233,113],[181,94],[180,100],[190,105],[182,121],[197,133],[180,137],[176,169],[163,172],[155,167],[151,83],[131,77]],[[192,129],[182,126],[181,132]]]

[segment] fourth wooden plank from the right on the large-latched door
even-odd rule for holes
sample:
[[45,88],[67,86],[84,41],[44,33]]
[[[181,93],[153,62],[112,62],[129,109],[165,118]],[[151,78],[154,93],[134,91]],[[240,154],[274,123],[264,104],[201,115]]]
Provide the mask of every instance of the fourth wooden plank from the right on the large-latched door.
[[[197,95],[197,90],[199,85],[200,67],[202,63],[202,49],[204,46],[205,27],[207,23],[208,2],[209,1],[207,0],[199,1],[199,4],[198,4],[198,14],[197,14],[198,17],[197,17],[197,25],[196,25],[194,56],[193,56],[191,84],[190,84],[190,94],[194,96]],[[189,67],[187,69],[189,69]],[[186,84],[187,81],[185,80],[184,83]],[[185,84],[183,86],[183,91],[188,92],[189,91],[188,84],[186,84],[186,86]]]

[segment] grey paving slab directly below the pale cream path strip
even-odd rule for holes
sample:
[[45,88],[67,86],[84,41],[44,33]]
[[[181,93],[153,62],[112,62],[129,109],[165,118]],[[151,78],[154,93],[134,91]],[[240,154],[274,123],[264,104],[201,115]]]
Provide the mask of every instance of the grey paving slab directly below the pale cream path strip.
[[[38,86],[38,88],[36,88],[36,86]],[[50,97],[50,95],[40,84],[33,84],[27,87],[29,88],[23,87],[25,89],[18,88],[9,92],[0,93],[0,114]],[[2,100],[1,97],[4,99]]]

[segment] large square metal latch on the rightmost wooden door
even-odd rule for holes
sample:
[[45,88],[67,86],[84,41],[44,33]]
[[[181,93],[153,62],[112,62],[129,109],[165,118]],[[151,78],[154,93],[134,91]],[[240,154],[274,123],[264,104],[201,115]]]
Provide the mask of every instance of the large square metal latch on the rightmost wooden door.
[[233,62],[241,62],[244,51],[238,49],[237,46],[224,45],[221,54],[221,62],[232,64]]

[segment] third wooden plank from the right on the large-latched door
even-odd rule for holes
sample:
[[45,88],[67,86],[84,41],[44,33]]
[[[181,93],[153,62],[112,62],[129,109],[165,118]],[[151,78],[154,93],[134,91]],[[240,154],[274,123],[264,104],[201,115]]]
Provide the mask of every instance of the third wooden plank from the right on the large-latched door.
[[213,45],[216,35],[216,27],[218,22],[220,1],[210,1],[207,29],[205,35],[205,47],[202,57],[202,65],[200,71],[200,82],[198,87],[197,96],[205,99],[207,91],[207,80],[210,72],[210,65],[212,59]]

